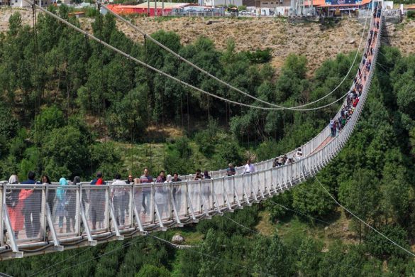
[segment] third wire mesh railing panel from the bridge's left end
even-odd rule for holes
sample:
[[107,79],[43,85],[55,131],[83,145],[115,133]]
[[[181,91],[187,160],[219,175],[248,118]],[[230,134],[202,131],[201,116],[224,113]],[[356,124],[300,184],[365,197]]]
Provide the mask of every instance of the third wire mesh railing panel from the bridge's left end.
[[108,190],[106,185],[87,186],[82,188],[84,195],[87,195],[88,202],[85,203],[87,222],[89,229],[93,233],[108,230]]

